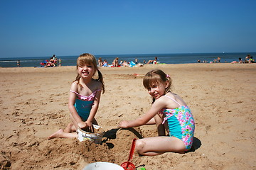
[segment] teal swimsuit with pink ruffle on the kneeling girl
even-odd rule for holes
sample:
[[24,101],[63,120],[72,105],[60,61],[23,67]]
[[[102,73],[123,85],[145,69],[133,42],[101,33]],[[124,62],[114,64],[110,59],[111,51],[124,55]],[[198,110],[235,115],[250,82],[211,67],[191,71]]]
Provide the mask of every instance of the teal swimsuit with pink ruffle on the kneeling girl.
[[75,98],[75,109],[78,112],[78,115],[82,118],[82,120],[86,121],[87,118],[90,115],[90,110],[92,109],[93,102],[95,100],[95,95],[97,91],[101,90],[95,90],[90,94],[90,96],[82,96],[78,94],[78,92],[72,91],[71,92],[77,94],[77,98]]

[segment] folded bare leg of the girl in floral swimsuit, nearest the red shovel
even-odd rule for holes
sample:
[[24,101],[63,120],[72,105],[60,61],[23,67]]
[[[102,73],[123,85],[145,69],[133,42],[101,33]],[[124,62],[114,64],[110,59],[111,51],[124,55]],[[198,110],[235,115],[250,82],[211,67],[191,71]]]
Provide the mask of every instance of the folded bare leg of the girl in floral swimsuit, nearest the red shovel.
[[185,152],[184,143],[177,137],[147,137],[136,141],[135,150],[145,156],[155,156],[165,152]]

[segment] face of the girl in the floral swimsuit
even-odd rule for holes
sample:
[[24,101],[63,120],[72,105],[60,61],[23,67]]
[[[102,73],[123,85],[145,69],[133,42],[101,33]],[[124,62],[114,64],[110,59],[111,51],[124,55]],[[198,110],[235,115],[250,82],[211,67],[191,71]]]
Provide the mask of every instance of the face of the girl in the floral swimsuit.
[[165,94],[167,86],[168,81],[156,82],[151,84],[151,86],[149,86],[147,90],[150,96],[152,96],[155,99],[158,99]]

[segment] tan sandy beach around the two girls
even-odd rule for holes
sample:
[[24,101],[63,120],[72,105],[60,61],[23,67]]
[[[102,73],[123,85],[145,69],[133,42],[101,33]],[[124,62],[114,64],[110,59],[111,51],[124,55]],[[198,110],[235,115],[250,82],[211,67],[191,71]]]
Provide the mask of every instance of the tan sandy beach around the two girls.
[[77,139],[47,140],[70,122],[68,91],[75,67],[0,68],[1,169],[82,169],[92,162],[122,164],[134,137],[156,135],[154,125],[119,130],[118,123],[149,110],[143,75],[163,69],[173,91],[196,120],[195,150],[139,157],[149,169],[256,169],[256,64],[159,64],[100,68],[105,79],[96,118],[106,131],[102,145]]

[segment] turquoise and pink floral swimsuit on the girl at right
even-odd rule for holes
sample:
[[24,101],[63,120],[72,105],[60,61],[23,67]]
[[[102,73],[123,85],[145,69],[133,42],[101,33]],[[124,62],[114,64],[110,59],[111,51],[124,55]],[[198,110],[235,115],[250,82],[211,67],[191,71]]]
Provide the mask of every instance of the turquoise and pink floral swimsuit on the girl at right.
[[188,106],[181,106],[181,104],[174,100],[174,98],[169,96],[166,97],[175,101],[179,107],[174,109],[161,109],[159,113],[164,114],[165,116],[163,124],[167,120],[169,136],[174,136],[182,140],[186,146],[186,151],[188,151],[192,147],[195,130],[195,122],[191,110]]

